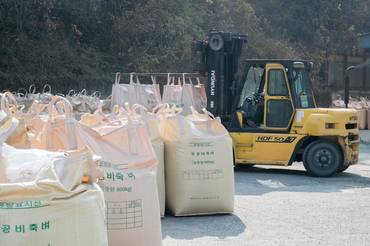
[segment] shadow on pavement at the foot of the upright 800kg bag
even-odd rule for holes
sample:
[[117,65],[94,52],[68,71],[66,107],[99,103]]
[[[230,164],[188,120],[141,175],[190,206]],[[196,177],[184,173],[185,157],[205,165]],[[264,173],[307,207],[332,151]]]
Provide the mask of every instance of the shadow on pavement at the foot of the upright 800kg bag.
[[204,236],[223,239],[238,236],[246,228],[235,214],[176,217],[166,213],[161,222],[162,239],[167,235],[174,239],[195,239]]

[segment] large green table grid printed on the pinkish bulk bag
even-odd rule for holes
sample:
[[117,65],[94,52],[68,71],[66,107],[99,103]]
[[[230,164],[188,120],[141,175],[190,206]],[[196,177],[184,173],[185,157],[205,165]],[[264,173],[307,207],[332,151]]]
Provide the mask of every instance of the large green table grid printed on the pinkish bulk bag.
[[107,230],[142,226],[141,199],[127,202],[105,202]]

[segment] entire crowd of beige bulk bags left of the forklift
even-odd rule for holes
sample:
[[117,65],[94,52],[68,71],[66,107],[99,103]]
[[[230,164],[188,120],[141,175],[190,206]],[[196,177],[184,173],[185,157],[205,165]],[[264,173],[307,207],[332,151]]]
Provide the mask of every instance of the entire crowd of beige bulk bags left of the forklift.
[[[155,89],[149,93],[155,78],[154,87],[137,81],[121,90],[115,84],[112,101],[120,105],[109,111],[103,109],[109,99],[97,102],[97,93],[1,94],[0,140],[6,144],[0,220],[6,234],[0,245],[68,240],[69,245],[156,246],[162,245],[165,211],[232,213],[228,131],[204,109],[202,86],[186,84],[184,76],[182,86],[171,80],[168,76],[163,98],[172,106],[160,103]],[[144,98],[148,107],[140,104]],[[32,102],[26,106],[25,100]]]

